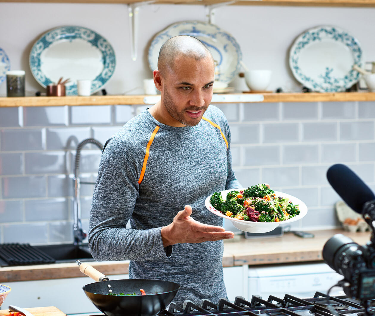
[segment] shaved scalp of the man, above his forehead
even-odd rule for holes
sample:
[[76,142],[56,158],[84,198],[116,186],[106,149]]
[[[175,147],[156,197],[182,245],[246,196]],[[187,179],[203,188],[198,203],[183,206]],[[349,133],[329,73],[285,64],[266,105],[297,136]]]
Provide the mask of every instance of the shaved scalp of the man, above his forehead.
[[175,69],[178,57],[193,58],[196,61],[210,57],[212,67],[214,61],[211,52],[200,40],[188,35],[179,35],[168,39],[160,48],[157,68],[164,76]]

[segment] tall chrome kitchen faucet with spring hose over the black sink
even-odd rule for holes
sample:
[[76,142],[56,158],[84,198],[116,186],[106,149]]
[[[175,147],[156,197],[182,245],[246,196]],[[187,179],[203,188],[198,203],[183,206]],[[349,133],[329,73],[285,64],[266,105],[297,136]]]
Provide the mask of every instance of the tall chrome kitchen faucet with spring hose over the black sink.
[[88,138],[80,142],[76,149],[75,154],[75,164],[74,164],[74,225],[73,225],[73,236],[74,244],[81,244],[82,241],[87,237],[86,231],[82,228],[81,223],[81,184],[95,184],[94,182],[81,182],[80,179],[80,158],[81,158],[81,149],[84,145],[92,143],[103,150],[103,145],[96,139]]

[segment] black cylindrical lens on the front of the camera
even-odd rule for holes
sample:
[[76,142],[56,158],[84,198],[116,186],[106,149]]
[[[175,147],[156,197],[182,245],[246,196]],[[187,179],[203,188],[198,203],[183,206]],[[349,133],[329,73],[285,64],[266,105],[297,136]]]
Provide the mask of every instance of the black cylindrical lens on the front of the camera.
[[[331,237],[323,247],[323,259],[336,272],[351,279],[348,264],[357,252],[359,245],[343,234]],[[346,275],[348,274],[348,275]]]

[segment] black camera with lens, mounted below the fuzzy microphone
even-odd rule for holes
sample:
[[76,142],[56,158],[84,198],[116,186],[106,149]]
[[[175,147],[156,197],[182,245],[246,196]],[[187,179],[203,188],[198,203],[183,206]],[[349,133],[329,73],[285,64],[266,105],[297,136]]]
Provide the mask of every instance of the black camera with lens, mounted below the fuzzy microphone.
[[344,276],[345,294],[361,301],[375,300],[375,248],[371,241],[360,246],[349,237],[336,234],[324,245],[323,259]]

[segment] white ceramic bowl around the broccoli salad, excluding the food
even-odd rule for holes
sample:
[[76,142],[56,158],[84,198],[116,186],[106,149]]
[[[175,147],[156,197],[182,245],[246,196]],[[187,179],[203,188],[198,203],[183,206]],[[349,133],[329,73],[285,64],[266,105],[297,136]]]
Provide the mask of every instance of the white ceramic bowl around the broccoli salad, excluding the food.
[[[221,193],[221,196],[223,197],[223,199],[226,200],[226,194],[228,192],[234,191],[234,190],[241,191],[241,190],[244,190],[244,189],[243,188],[241,188],[241,189],[230,189],[230,190],[221,191],[220,193]],[[210,203],[211,195],[205,199],[204,205],[205,205],[205,207],[207,207],[208,210],[210,210],[210,212],[214,213],[215,215],[231,221],[232,224],[234,225],[234,227],[236,227],[236,228],[238,228],[239,230],[242,230],[242,231],[247,231],[249,233],[267,233],[267,231],[272,231],[276,227],[278,227],[279,225],[287,225],[287,224],[293,223],[295,221],[298,221],[301,218],[303,218],[303,216],[305,216],[307,214],[307,206],[299,198],[296,198],[292,195],[282,193],[282,192],[279,192],[279,191],[275,191],[275,194],[276,194],[276,196],[279,196],[279,197],[290,198],[290,200],[293,202],[294,205],[298,205],[298,208],[300,210],[299,215],[296,215],[296,216],[292,217],[291,219],[287,219],[286,221],[282,221],[282,222],[270,222],[270,223],[250,222],[250,221],[243,221],[242,219],[231,218],[231,217],[225,216],[223,213],[219,212]]]

